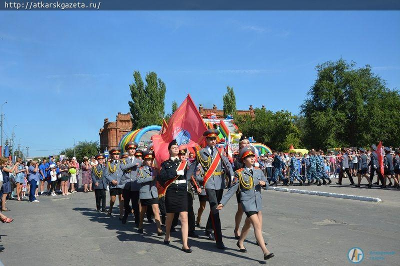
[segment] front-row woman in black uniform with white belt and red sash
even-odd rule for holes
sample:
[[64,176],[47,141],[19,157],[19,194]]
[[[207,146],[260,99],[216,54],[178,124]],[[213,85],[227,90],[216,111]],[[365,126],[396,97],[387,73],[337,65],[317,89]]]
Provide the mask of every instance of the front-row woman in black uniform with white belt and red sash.
[[165,191],[165,239],[164,244],[169,245],[170,227],[174,213],[179,213],[181,233],[182,233],[182,251],[191,253],[192,250],[187,245],[188,225],[187,225],[187,182],[191,174],[187,171],[187,161],[181,161],[178,158],[179,146],[176,140],[168,144],[170,158],[161,163],[159,178],[164,183]]

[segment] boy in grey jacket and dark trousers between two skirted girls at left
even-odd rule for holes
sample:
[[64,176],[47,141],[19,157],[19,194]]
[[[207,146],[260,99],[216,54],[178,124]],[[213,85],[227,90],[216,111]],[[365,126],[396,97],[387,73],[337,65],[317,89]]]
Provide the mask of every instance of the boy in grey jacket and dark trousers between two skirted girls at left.
[[[119,183],[119,187],[122,189],[123,208],[124,214],[122,217],[122,224],[126,223],[126,219],[129,214],[134,215],[134,223],[136,226],[139,225],[140,209],[139,209],[139,190],[140,185],[137,183],[137,170],[141,166],[141,159],[137,159],[134,154],[137,149],[137,143],[130,141],[125,145],[125,151],[128,153],[128,157],[122,159],[119,163],[119,167],[122,170],[122,178]],[[130,208],[129,203],[132,203]]]

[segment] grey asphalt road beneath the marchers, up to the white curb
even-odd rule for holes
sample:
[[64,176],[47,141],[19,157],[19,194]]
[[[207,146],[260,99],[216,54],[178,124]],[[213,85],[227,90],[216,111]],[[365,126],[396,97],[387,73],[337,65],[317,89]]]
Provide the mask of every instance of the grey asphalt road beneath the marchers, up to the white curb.
[[[132,217],[125,225],[120,223],[115,206],[111,218],[96,213],[94,193],[42,196],[37,204],[10,200],[7,207],[11,211],[4,214],[15,220],[1,224],[5,250],[0,253],[0,261],[6,266],[351,265],[347,252],[359,247],[364,252],[360,265],[398,265],[400,207],[392,199],[399,200],[400,191],[390,193],[390,201],[374,203],[263,192],[263,235],[267,248],[275,254],[267,262],[254,245],[253,231],[245,242],[248,252],[238,252],[232,232],[237,208],[234,198],[220,214],[228,249],[217,250],[214,243],[205,239],[202,227],[197,228],[199,239],[189,239],[191,254],[180,251],[179,230],[172,233],[171,245],[165,246],[163,238],[153,233],[154,224],[145,223],[144,234],[140,235],[133,228]],[[196,210],[197,198],[194,205]],[[207,206],[201,226],[208,211]],[[394,254],[377,258],[370,252]]]

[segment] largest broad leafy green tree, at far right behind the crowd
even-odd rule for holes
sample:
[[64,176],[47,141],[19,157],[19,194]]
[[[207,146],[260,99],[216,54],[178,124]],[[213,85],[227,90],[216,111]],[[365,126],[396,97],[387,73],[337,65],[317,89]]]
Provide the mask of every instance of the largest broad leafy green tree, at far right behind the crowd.
[[343,59],[316,66],[317,78],[301,105],[308,148],[400,144],[400,95],[371,72]]

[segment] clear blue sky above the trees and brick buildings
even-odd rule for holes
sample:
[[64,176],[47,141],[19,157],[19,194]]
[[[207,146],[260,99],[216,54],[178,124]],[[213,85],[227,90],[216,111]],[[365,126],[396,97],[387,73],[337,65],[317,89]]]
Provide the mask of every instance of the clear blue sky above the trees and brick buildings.
[[166,83],[165,109],[190,93],[222,108],[298,113],[315,65],[340,57],[369,64],[400,88],[398,11],[1,11],[4,138],[30,156],[73,139],[98,140],[103,119],[129,111],[132,73]]

